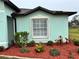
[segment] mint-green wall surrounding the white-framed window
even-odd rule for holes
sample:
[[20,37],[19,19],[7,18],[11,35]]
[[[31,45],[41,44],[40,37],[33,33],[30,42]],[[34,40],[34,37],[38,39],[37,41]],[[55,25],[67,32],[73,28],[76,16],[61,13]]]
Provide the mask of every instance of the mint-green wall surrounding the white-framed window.
[[[47,17],[48,18],[48,38],[34,39],[32,38],[32,18],[33,17]],[[26,16],[16,17],[17,32],[27,31],[29,33],[28,40],[35,42],[46,43],[49,40],[55,41],[58,36],[68,38],[68,19],[67,15],[51,15],[43,11],[37,11]],[[65,41],[65,39],[63,39]]]

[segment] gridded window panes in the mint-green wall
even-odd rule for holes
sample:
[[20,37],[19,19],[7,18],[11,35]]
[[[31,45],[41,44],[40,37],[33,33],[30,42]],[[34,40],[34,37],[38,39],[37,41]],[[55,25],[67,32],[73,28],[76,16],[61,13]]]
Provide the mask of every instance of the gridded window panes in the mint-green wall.
[[47,37],[47,18],[34,18],[32,20],[33,37],[46,38]]

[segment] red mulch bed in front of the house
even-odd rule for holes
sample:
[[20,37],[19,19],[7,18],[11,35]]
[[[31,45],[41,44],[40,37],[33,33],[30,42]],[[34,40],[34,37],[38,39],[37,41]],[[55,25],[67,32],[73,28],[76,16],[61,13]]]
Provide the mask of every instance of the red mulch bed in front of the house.
[[[62,45],[58,45],[58,44],[54,44],[52,46],[47,46],[44,45],[45,51],[42,53],[36,53],[35,52],[35,47],[27,47],[30,52],[29,53],[20,53],[18,47],[16,46],[12,46],[11,48],[0,52],[0,55],[10,55],[10,56],[20,56],[20,57],[31,57],[31,58],[43,58],[43,59],[68,59],[69,56],[69,52],[71,51],[74,55],[75,59],[79,59],[79,55],[77,53],[77,48],[79,48],[79,46],[75,46],[72,43],[69,44],[62,44]],[[60,51],[60,56],[51,56],[49,54],[49,50],[50,48],[56,48]]]

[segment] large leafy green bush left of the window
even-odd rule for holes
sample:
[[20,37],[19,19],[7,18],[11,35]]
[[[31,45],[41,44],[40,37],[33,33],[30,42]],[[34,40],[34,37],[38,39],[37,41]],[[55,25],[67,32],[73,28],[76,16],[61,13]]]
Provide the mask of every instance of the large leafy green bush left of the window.
[[15,44],[19,47],[23,47],[27,44],[28,33],[27,32],[17,32],[15,34]]

